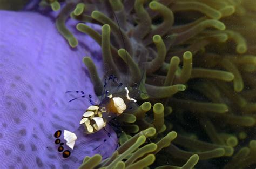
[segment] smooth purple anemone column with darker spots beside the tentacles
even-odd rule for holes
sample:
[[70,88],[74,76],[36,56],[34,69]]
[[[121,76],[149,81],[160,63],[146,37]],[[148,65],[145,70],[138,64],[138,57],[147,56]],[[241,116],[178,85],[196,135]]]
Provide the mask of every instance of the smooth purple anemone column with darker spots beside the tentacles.
[[1,168],[77,168],[85,156],[110,156],[117,145],[110,127],[110,138],[104,130],[80,133],[68,159],[53,138],[58,129],[75,131],[90,105],[87,99],[68,103],[72,97],[65,91],[83,90],[96,98],[82,58],[98,55],[99,46],[79,35],[80,45],[71,49],[54,22],[38,13],[0,11],[0,21]]

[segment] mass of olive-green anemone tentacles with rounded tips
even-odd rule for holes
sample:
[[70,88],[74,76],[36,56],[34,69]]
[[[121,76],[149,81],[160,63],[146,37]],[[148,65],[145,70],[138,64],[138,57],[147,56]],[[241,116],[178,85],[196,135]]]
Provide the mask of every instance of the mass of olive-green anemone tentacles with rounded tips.
[[[60,9],[57,1],[48,3]],[[255,165],[255,6],[252,0],[67,1],[56,25],[70,46],[78,42],[65,27],[69,16],[102,46],[104,75],[139,83],[142,91],[140,106],[118,118],[126,134],[139,133],[122,133],[112,157],[86,157],[81,168],[143,168],[153,162],[192,168],[198,157],[204,167]],[[102,32],[84,22],[102,25]],[[89,57],[83,61],[100,95],[97,67]],[[158,137],[145,134],[149,127]],[[138,149],[145,136],[160,141]]]

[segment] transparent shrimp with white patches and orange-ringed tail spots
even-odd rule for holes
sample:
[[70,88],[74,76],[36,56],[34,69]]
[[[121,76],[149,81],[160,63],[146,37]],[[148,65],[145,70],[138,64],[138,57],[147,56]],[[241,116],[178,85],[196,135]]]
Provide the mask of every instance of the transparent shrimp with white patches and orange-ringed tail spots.
[[[78,127],[78,129],[80,129],[81,126],[84,126],[84,136],[102,130],[110,120],[120,116],[130,103],[136,102],[135,99],[130,98],[127,87],[125,87],[125,90],[126,91],[110,94],[106,96],[100,104],[89,106],[86,109],[80,120],[80,126]],[[78,134],[77,132],[78,130],[74,132],[68,130],[56,131],[54,134],[54,137],[56,138],[55,144],[60,144],[60,138],[62,138],[62,140],[64,139],[63,142],[65,145],[73,150],[78,136],[81,137],[81,134]],[[64,151],[63,145],[58,147],[58,151]],[[63,157],[67,158],[70,154],[71,152],[69,150],[65,150],[63,152]]]

